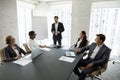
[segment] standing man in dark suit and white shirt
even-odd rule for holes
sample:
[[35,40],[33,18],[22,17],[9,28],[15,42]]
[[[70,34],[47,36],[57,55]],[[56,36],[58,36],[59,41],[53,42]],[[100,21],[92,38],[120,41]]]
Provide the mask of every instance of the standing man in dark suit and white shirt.
[[64,31],[63,23],[58,22],[58,16],[54,17],[55,23],[52,24],[51,32],[53,33],[53,42],[56,45],[57,41],[58,44],[61,46],[62,40],[62,32]]

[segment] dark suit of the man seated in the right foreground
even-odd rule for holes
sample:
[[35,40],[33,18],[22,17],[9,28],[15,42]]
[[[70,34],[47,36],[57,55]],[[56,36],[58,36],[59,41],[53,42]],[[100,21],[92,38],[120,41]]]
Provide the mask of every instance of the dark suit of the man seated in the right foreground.
[[87,68],[83,70],[80,74],[79,80],[84,80],[87,74],[97,70],[98,66],[102,66],[103,64],[108,62],[108,59],[110,56],[110,49],[105,44],[103,44],[102,47],[99,49],[94,59],[90,58],[96,46],[97,46],[96,43],[92,43],[90,46],[81,48],[80,53],[83,53],[84,51],[89,50],[88,58],[85,60],[81,59],[77,64],[77,66],[75,67],[74,72],[78,73],[79,66],[86,66],[89,63],[93,63],[93,66],[91,68]]

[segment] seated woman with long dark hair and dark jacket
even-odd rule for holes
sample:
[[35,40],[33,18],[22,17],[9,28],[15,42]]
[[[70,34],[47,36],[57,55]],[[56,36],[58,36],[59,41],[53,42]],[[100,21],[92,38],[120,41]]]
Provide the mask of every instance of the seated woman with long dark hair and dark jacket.
[[80,37],[78,38],[76,44],[70,47],[70,50],[75,51],[78,48],[82,48],[88,44],[87,36],[85,31],[80,32]]

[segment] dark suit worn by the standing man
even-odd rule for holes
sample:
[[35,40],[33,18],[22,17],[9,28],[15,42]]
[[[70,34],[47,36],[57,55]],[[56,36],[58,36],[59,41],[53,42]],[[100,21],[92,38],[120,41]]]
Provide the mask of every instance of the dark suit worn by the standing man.
[[[51,29],[51,32],[55,32],[55,23],[52,24],[52,29]],[[57,35],[53,34],[53,42],[54,44],[56,45],[56,42],[58,41],[58,44],[61,45],[61,39],[62,39],[62,32],[64,31],[64,26],[63,26],[63,23],[61,22],[58,22],[58,27],[57,27],[57,32],[60,32],[58,33]]]

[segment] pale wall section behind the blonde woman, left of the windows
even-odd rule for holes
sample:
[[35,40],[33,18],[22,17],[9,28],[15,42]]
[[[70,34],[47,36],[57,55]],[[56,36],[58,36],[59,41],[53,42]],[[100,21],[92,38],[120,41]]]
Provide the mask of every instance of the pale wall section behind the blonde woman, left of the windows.
[[5,46],[5,38],[9,34],[18,42],[16,0],[0,0],[0,47]]

